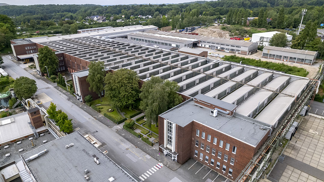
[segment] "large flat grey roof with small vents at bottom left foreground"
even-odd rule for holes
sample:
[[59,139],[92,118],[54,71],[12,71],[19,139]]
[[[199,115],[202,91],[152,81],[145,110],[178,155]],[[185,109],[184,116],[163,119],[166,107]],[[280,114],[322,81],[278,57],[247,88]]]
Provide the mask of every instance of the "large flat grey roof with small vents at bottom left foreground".
[[[65,148],[71,143],[74,145]],[[134,181],[119,165],[103,154],[78,131],[45,143],[21,156],[23,160],[26,160],[45,149],[46,153],[26,163],[38,181],[86,181],[84,178],[85,169],[89,171],[87,175],[90,181],[108,181],[110,177],[115,179],[114,182]],[[99,165],[94,162],[94,157],[100,162]]]

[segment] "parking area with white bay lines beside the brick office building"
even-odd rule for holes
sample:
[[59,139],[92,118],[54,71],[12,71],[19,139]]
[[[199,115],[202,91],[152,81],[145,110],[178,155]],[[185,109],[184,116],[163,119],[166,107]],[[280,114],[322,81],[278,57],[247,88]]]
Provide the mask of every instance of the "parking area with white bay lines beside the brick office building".
[[209,166],[203,165],[200,162],[190,159],[177,170],[177,172],[186,173],[190,176],[192,181],[201,182],[225,182],[229,181],[224,176],[219,175]]

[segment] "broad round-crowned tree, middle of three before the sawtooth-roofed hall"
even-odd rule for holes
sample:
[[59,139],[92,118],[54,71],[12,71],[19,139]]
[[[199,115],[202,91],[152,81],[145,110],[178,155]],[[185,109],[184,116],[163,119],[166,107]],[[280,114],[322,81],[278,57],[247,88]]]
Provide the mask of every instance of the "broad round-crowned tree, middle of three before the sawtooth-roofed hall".
[[136,72],[119,69],[105,77],[105,97],[111,100],[114,107],[133,108],[139,97],[139,78]]

